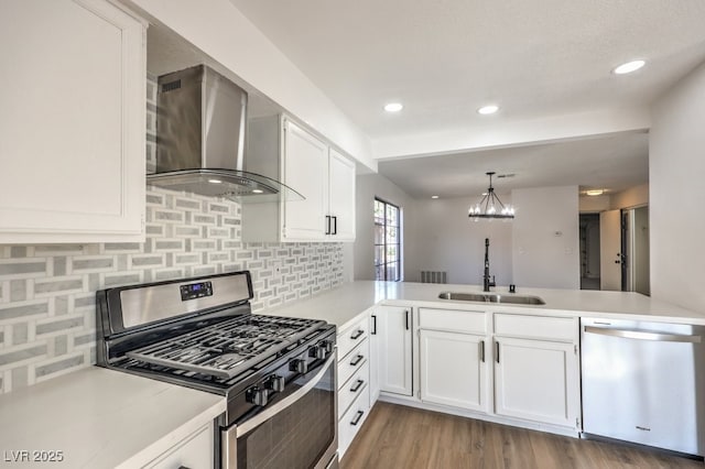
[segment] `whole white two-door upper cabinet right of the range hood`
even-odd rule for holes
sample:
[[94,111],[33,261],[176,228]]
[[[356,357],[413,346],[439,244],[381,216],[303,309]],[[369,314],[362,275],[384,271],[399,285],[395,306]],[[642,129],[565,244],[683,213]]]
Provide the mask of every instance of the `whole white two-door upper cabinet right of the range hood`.
[[248,121],[247,171],[304,199],[242,205],[246,242],[355,241],[355,163],[289,118]]

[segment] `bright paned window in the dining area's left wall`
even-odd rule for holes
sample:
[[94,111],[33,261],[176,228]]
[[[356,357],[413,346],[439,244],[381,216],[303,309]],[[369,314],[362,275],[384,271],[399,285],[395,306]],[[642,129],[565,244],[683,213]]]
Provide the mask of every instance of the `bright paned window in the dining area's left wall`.
[[401,212],[375,199],[375,280],[401,280]]

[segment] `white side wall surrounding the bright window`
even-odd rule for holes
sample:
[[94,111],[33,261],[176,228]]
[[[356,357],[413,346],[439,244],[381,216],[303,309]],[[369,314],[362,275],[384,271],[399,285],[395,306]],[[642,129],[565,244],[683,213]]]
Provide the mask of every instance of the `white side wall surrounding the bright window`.
[[[375,197],[399,206],[402,210],[402,248],[404,280],[417,281],[414,253],[417,252],[414,223],[417,217],[413,210],[413,199],[402,189],[379,174],[357,176],[356,186],[356,238],[352,246],[352,270],[355,280],[375,280]],[[346,247],[349,249],[349,247]],[[349,269],[349,266],[348,266]]]

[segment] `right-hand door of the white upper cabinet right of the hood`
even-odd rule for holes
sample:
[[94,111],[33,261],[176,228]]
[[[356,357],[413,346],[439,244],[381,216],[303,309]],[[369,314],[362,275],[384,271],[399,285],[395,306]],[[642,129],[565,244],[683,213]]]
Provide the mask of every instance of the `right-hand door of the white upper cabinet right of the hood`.
[[355,241],[355,163],[330,149],[328,173],[332,238]]

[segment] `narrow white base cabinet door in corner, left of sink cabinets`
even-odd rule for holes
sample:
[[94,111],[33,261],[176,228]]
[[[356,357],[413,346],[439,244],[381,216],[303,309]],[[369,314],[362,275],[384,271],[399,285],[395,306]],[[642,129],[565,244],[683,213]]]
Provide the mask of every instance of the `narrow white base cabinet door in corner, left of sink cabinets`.
[[382,306],[377,310],[380,391],[412,395],[411,308]]

